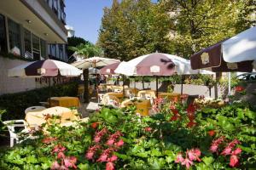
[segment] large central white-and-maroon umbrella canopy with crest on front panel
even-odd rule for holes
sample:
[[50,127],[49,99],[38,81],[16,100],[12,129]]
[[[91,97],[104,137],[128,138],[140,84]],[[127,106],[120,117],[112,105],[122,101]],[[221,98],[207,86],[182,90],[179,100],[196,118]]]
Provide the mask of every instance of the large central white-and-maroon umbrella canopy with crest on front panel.
[[172,54],[146,54],[126,63],[121,63],[114,71],[126,76],[172,76],[190,74],[212,74],[211,71],[192,70],[188,59]]

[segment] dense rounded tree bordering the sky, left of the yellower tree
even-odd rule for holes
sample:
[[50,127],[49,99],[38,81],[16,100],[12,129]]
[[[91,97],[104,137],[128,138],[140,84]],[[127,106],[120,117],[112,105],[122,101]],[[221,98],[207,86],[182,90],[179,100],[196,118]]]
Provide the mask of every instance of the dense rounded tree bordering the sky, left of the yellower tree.
[[115,0],[104,9],[99,45],[108,58],[133,59],[142,54],[168,52],[169,17],[150,0]]

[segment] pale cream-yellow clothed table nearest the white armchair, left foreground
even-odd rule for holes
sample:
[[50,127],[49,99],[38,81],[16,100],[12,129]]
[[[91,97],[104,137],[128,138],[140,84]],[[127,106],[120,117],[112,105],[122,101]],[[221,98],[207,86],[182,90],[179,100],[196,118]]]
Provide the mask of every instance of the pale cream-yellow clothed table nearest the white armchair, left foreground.
[[44,109],[42,111],[29,111],[26,113],[25,120],[29,127],[34,127],[35,125],[42,125],[46,122],[45,116],[61,116],[59,120],[56,120],[61,125],[65,125],[68,122],[79,120],[78,111],[70,110],[66,107],[51,107],[49,109]]

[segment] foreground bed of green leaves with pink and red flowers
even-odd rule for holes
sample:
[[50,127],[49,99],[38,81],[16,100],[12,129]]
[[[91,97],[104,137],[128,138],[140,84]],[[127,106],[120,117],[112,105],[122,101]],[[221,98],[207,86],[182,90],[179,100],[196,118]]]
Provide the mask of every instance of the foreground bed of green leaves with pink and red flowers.
[[1,151],[3,169],[248,169],[256,166],[255,112],[167,103],[154,116],[102,108],[89,122],[48,125]]

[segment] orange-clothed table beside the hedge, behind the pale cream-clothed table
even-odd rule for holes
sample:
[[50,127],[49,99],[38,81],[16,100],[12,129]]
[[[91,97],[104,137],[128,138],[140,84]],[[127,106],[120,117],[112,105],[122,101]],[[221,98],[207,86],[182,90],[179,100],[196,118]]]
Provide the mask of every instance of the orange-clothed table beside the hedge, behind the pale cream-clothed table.
[[[48,99],[49,102],[49,99]],[[50,106],[61,106],[61,107],[79,107],[80,102],[77,97],[51,97]]]

